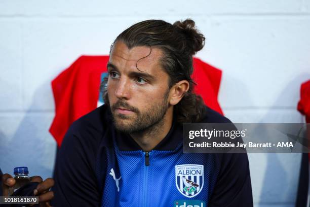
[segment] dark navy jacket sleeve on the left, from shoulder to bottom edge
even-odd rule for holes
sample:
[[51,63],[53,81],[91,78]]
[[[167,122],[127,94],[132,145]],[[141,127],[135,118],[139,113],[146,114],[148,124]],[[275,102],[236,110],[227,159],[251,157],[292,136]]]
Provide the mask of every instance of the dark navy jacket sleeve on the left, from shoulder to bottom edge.
[[[54,167],[56,206],[98,206],[98,155],[108,120],[102,106],[74,121],[65,134]],[[76,183],[72,178],[83,182]]]

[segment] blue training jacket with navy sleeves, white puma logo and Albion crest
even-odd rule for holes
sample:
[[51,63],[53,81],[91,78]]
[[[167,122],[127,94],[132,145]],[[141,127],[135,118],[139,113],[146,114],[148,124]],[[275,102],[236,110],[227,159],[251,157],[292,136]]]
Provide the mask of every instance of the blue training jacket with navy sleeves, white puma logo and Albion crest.
[[[231,123],[207,108],[201,122]],[[182,125],[144,152],[108,106],[75,121],[58,152],[53,206],[253,206],[247,154],[183,154]]]

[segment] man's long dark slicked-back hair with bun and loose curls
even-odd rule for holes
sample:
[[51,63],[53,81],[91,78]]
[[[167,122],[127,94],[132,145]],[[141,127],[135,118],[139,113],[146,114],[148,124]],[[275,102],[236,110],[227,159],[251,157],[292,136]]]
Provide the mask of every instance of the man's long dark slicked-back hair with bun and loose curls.
[[[122,41],[127,47],[156,47],[163,50],[161,64],[169,75],[169,88],[181,80],[189,82],[189,90],[174,106],[174,115],[179,123],[199,122],[205,115],[204,102],[193,93],[196,84],[190,75],[193,72],[192,56],[204,47],[205,37],[191,19],[170,24],[163,20],[138,22],[124,30],[113,42]],[[104,94],[105,100],[107,95]]]

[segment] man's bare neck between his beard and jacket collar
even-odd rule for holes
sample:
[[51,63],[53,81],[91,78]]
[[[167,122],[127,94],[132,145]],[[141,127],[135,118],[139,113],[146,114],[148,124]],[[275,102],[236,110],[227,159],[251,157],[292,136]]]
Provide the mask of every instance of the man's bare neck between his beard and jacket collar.
[[160,122],[152,125],[151,127],[143,131],[131,133],[131,137],[142,148],[143,151],[151,151],[168,134],[172,126],[172,114],[173,110],[169,108],[164,118]]

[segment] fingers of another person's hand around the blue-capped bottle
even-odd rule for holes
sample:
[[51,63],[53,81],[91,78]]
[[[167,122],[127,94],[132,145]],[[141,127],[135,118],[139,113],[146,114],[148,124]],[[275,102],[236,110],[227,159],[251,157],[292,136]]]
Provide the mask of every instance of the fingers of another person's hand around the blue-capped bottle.
[[[49,204],[49,201],[54,197],[54,193],[53,191],[49,191],[49,189],[52,186],[54,186],[54,180],[52,178],[48,178],[45,181],[43,181],[40,176],[33,176],[30,179],[31,182],[40,183],[33,190],[33,194],[35,196],[38,196],[40,206],[42,207],[51,206]],[[14,186],[15,182],[16,182],[15,179],[9,174],[4,174],[2,176],[3,196],[8,196],[9,188]]]

